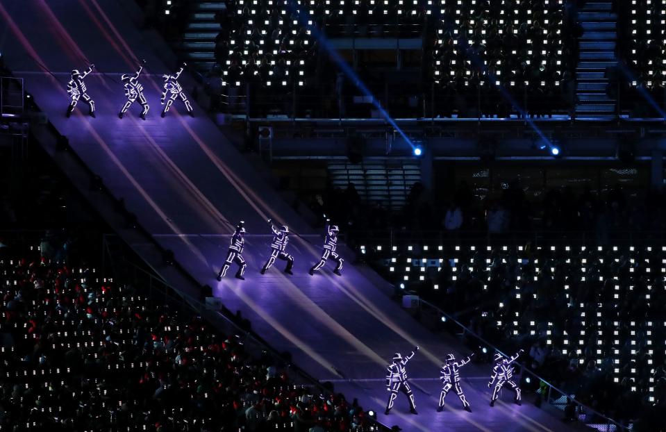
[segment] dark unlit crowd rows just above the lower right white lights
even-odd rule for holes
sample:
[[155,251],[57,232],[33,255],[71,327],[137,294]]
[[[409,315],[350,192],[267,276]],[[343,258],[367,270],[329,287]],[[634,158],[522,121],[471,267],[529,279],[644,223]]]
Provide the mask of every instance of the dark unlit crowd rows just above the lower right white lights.
[[[663,190],[627,192],[619,184],[603,194],[585,188],[551,188],[542,197],[528,197],[519,181],[508,183],[501,194],[483,197],[461,181],[448,189],[446,199],[435,199],[421,183],[408,194],[402,210],[391,211],[360,198],[356,187],[327,188],[307,199],[316,215],[333,215],[346,226],[353,244],[388,231],[405,238],[441,233],[451,240],[519,239],[538,235],[544,240],[585,240],[610,244],[666,232]],[[487,191],[483,192],[487,194]],[[423,234],[427,233],[427,234]]]

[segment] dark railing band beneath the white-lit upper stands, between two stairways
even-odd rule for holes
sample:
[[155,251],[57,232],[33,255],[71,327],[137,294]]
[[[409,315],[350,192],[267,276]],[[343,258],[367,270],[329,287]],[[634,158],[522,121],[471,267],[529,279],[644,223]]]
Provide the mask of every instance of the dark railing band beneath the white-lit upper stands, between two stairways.
[[[215,78],[222,79],[222,78]],[[441,85],[430,83],[422,90],[406,89],[404,86],[371,89],[373,101],[363,95],[338,94],[334,83],[322,83],[319,86],[297,85],[289,81],[287,85],[274,82],[244,83],[226,85],[220,90],[217,104],[213,108],[222,113],[247,113],[254,118],[270,118],[281,115],[294,119],[333,118],[333,119],[369,119],[383,118],[377,105],[381,106],[394,118],[418,118],[431,120],[441,118],[458,119],[532,119],[569,120],[574,113],[575,98],[565,92],[544,96],[528,88],[516,88],[511,92],[518,106],[513,106],[501,94],[485,88],[451,92]],[[389,91],[390,89],[390,91]],[[404,100],[413,101],[405,104]]]

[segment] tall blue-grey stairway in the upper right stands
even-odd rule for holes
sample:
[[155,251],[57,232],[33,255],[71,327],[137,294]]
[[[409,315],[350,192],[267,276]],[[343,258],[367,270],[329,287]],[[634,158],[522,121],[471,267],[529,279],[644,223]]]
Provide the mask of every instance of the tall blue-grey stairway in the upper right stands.
[[616,101],[606,94],[605,77],[606,68],[617,63],[617,16],[611,12],[611,6],[611,1],[588,2],[578,11],[578,21],[585,33],[578,42],[576,117],[615,116]]

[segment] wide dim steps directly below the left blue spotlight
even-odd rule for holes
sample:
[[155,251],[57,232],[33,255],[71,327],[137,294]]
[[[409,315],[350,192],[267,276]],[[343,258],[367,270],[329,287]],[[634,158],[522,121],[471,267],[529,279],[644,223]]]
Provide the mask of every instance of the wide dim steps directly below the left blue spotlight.
[[331,162],[328,175],[335,188],[353,183],[360,199],[383,208],[403,208],[412,186],[421,181],[419,163],[409,160],[366,160],[360,164]]

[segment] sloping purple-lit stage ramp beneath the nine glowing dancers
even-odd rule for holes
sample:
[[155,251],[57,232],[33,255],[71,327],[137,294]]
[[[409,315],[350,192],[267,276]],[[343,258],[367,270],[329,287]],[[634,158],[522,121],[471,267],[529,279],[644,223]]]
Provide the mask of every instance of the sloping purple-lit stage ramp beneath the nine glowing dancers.
[[[439,383],[433,377],[439,376],[440,359],[447,353],[465,354],[458,351],[460,344],[427,331],[401,310],[388,297],[391,287],[372,272],[346,265],[343,278],[331,269],[308,276],[307,269],[319,258],[321,238],[258,178],[201,109],[193,103],[197,117],[190,118],[176,103],[167,118],[159,117],[160,75],[169,69],[126,19],[130,3],[0,0],[0,5],[0,22],[9,28],[1,47],[8,66],[26,78],[27,90],[74,151],[116,197],[124,198],[140,224],[174,251],[178,263],[199,283],[214,287],[230,310],[241,310],[274,347],[291,351],[294,363],[317,379],[335,381],[336,390],[350,399],[358,397],[365,408],[378,410],[386,424],[399,424],[406,431],[570,430],[559,417],[533,404],[514,406],[508,392],[503,396],[507,403],[490,408],[489,365],[470,365],[463,373],[474,413],[460,410],[455,394],[449,395],[443,413],[435,413]],[[68,72],[83,68],[83,58],[106,74],[87,78],[97,118],[76,113],[66,119]],[[120,120],[117,112],[125,99],[115,81],[119,74],[132,72],[140,58],[147,60],[147,72],[153,74],[143,81],[151,104],[149,118],[142,122],[137,118],[140,108],[133,106]],[[183,87],[189,92],[191,83]],[[77,108],[81,113],[87,110],[83,103]],[[267,217],[303,235],[292,236],[290,244],[296,258],[294,276],[280,272],[280,261],[265,276],[258,273],[270,240],[265,235]],[[224,260],[228,238],[211,234],[228,235],[240,219],[247,222],[249,233],[247,281],[217,283],[215,272]],[[351,253],[342,254],[349,263]],[[394,413],[385,419],[385,363],[395,351],[415,344],[422,350],[410,363],[410,376],[415,379],[420,414],[409,415],[400,395]]]

